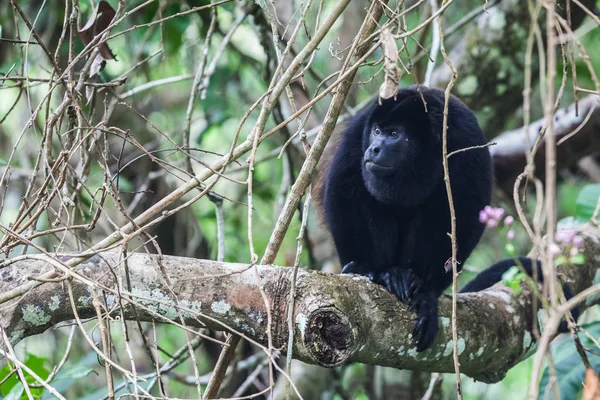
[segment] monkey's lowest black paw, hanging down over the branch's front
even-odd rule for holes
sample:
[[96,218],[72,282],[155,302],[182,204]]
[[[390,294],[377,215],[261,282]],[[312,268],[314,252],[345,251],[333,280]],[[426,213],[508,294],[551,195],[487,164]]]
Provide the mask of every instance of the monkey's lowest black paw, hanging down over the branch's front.
[[410,306],[417,311],[417,324],[412,335],[417,351],[421,352],[431,346],[438,332],[438,298],[432,292],[418,293]]

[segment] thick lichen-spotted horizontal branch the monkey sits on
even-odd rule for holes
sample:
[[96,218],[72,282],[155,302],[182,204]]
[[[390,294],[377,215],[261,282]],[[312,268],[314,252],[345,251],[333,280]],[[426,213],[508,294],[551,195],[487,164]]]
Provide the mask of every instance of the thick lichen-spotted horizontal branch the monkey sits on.
[[[575,292],[594,283],[600,271],[599,229],[587,227],[584,236],[589,263],[567,267],[566,278]],[[127,268],[117,253],[102,253],[70,272],[69,281],[48,282],[0,307],[0,324],[13,342],[75,317],[95,317],[92,285],[114,315],[144,321],[180,322],[188,328],[230,327],[259,344],[267,343],[267,308],[259,291],[258,275],[270,302],[273,344],[285,349],[288,338],[286,310],[291,268],[249,267],[179,257],[132,254]],[[28,258],[0,269],[0,293],[15,290],[32,277],[53,271],[56,260]],[[127,282],[131,289],[118,287]],[[64,271],[59,268],[58,271]],[[171,289],[165,283],[168,275]],[[62,272],[57,272],[59,277]],[[70,283],[69,283],[70,282]],[[86,283],[87,282],[87,283]],[[68,294],[72,285],[73,297]],[[417,353],[410,332],[415,314],[384,288],[366,278],[331,275],[302,269],[298,273],[294,321],[294,358],[321,366],[357,361],[421,371],[453,371],[451,303],[440,301],[440,333],[433,346]],[[121,294],[121,301],[118,300]],[[177,296],[175,300],[174,296]],[[177,310],[179,307],[179,312]],[[526,288],[517,296],[502,285],[481,293],[458,296],[461,372],[485,382],[495,382],[517,364],[534,345],[528,331],[531,295]]]

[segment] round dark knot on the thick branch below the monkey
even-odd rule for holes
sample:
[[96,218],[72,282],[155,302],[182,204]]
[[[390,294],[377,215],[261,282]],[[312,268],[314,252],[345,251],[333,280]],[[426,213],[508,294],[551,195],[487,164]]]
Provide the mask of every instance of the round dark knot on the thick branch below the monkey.
[[313,359],[323,367],[336,367],[348,360],[356,338],[348,317],[334,307],[320,308],[308,320],[305,345]]

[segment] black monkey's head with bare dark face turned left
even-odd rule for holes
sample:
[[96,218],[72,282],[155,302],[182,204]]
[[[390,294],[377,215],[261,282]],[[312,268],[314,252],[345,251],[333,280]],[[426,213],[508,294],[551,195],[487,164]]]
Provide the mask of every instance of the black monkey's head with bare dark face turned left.
[[[429,100],[426,92],[424,97]],[[443,182],[442,115],[432,107],[437,109],[437,104],[428,101],[426,111],[415,90],[373,108],[362,138],[362,176],[378,201],[419,204]]]

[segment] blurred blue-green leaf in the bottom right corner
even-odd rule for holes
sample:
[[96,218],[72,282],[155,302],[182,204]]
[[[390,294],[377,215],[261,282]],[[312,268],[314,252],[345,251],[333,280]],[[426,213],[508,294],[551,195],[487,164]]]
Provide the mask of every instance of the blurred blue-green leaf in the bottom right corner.
[[[592,324],[584,326],[592,337],[598,337],[600,335],[600,322],[594,322]],[[591,340],[584,334],[579,334],[579,338],[582,341],[584,347],[595,348]],[[552,354],[554,357],[554,364],[556,366],[556,377],[557,383],[560,390],[560,398],[562,400],[575,400],[578,399],[581,390],[582,383],[585,378],[585,366],[581,362],[581,357],[575,349],[573,340],[568,337],[552,346]],[[600,368],[600,356],[587,353],[590,364],[595,371]],[[540,380],[540,395],[539,399],[544,398],[548,383],[550,382],[550,373],[548,368],[544,370],[542,379]],[[549,388],[548,388],[549,389]]]

